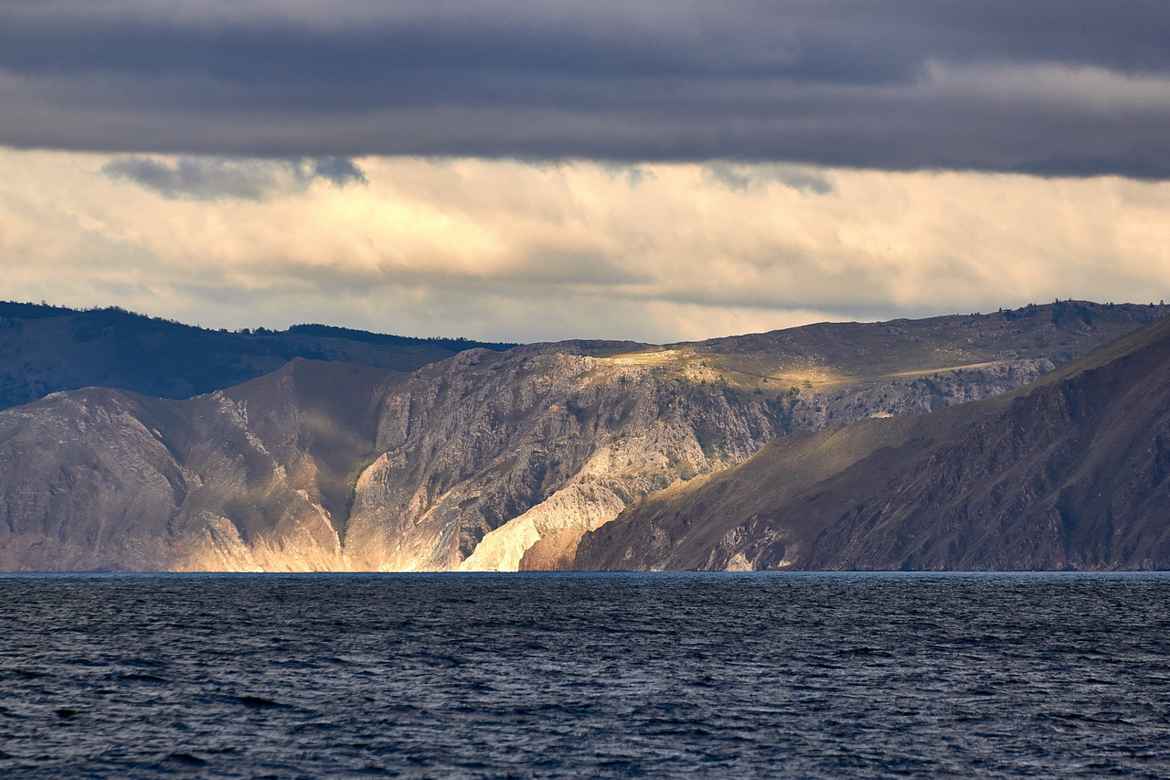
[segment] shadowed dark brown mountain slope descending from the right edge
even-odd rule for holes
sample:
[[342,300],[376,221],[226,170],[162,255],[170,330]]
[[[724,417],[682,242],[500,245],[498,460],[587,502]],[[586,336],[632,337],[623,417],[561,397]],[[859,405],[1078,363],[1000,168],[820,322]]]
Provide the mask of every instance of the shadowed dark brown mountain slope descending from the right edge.
[[559,555],[581,569],[1168,568],[1170,319],[994,398],[785,437]]

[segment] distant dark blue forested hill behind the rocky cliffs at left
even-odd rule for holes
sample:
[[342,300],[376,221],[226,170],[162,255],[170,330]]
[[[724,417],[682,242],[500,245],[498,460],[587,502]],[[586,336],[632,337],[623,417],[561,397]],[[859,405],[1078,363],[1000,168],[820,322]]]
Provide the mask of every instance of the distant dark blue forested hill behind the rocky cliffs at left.
[[515,344],[322,324],[233,333],[117,307],[77,310],[0,302],[0,409],[87,386],[187,398],[269,374],[294,357],[413,371],[477,347],[501,350]]

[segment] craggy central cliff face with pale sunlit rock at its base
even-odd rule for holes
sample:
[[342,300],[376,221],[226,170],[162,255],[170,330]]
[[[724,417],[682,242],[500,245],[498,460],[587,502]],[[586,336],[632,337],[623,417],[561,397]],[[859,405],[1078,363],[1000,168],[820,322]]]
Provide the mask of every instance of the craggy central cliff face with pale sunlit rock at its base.
[[535,538],[743,460],[783,432],[770,401],[620,360],[461,356],[386,404],[347,547],[370,568],[448,569],[474,552],[469,566],[515,569]]

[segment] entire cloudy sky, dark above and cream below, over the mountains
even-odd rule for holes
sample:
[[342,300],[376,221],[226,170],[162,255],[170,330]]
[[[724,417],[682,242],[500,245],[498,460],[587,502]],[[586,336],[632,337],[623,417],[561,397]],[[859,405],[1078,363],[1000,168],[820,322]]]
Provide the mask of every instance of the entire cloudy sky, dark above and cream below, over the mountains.
[[0,299],[669,342],[1170,289],[1165,0],[0,0]]

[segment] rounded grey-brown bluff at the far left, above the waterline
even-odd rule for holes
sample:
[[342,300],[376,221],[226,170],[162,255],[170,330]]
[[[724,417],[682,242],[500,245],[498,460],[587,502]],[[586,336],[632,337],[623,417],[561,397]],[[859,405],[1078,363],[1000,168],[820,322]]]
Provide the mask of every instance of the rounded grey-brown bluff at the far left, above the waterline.
[[152,424],[156,402],[92,390],[0,415],[6,570],[168,568],[191,475]]

